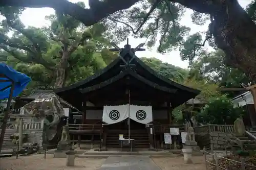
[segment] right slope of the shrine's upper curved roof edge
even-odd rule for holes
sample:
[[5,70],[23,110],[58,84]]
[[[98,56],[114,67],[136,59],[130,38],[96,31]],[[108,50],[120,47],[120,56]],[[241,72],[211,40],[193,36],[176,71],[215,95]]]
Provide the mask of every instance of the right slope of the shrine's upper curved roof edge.
[[198,90],[198,89],[193,89],[193,88],[190,88],[190,87],[187,87],[187,86],[184,86],[184,85],[181,85],[179,83],[176,83],[174,81],[171,81],[169,79],[166,79],[162,76],[160,76],[159,74],[157,74],[156,71],[154,71],[152,68],[150,68],[150,66],[146,65],[143,61],[141,61],[138,57],[135,57],[135,60],[145,69],[147,70],[148,72],[150,72],[152,75],[154,75],[155,77],[161,79],[162,81],[172,85],[172,86],[175,86],[181,90],[186,90],[186,91],[189,91],[189,92],[192,92],[192,93],[195,93],[196,95],[198,95],[201,91]]

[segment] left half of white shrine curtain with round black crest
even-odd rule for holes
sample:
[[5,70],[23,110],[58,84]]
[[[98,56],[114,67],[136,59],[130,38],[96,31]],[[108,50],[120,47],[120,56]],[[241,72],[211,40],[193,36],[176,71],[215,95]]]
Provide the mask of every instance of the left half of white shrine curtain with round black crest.
[[128,105],[104,106],[102,121],[106,124],[115,124],[129,117]]

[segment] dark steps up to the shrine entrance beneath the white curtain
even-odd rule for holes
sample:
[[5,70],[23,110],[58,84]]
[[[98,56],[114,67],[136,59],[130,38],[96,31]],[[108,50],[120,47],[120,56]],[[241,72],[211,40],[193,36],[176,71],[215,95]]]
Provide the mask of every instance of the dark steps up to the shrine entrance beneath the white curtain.
[[[128,138],[127,131],[110,131],[106,136],[106,148],[119,148],[119,134],[123,134],[124,138]],[[131,130],[130,138],[135,140],[135,148],[150,148],[150,141],[148,139],[148,134],[146,130]]]

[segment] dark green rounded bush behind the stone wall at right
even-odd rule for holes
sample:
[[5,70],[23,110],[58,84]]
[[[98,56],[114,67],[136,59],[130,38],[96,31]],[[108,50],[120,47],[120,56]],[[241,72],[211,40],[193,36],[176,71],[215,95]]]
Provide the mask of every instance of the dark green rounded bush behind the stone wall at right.
[[208,104],[196,115],[196,120],[205,124],[231,125],[244,113],[242,108],[234,108],[226,95],[220,95],[209,99]]

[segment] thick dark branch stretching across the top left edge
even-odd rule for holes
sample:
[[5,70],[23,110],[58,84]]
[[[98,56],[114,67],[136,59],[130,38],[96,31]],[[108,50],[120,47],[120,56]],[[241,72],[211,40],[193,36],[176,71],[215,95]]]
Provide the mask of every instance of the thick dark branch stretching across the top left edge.
[[[92,26],[106,16],[113,14],[117,11],[130,8],[140,0],[90,0],[93,1],[94,6],[90,6],[90,9],[84,9],[76,4],[73,4],[67,0],[2,0],[0,6],[15,6],[15,7],[31,7],[42,8],[50,7],[71,15],[75,19],[81,21],[86,26]],[[89,1],[89,3],[90,3]],[[100,12],[99,12],[100,11]]]

